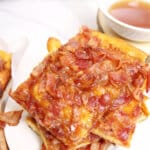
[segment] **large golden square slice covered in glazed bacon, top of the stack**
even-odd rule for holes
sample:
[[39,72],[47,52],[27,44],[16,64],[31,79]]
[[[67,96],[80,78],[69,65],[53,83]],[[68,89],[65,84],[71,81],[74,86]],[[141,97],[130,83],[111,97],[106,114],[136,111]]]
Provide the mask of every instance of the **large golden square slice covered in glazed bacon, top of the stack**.
[[70,149],[90,144],[85,142],[90,134],[129,146],[137,121],[148,115],[146,58],[122,40],[83,28],[11,96]]

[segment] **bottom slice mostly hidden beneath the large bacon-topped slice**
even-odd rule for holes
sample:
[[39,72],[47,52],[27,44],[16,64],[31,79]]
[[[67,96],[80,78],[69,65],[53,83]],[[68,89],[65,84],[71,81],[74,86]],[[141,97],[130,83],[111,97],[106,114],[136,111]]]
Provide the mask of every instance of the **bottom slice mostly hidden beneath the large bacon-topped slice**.
[[110,144],[108,141],[103,140],[99,136],[90,134],[88,138],[82,141],[82,145],[69,149],[50,132],[41,127],[33,118],[27,117],[26,122],[29,127],[40,136],[43,142],[41,150],[106,150]]

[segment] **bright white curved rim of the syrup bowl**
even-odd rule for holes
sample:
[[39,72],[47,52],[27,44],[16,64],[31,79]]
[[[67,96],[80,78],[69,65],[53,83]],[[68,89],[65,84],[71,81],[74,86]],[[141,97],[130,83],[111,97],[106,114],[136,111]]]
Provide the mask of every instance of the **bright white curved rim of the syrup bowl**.
[[[118,0],[116,0],[116,2],[117,2]],[[115,3],[115,2],[114,2]],[[113,3],[112,3],[113,4]],[[117,24],[119,24],[120,26],[124,26],[124,27],[126,27],[126,28],[129,28],[129,29],[131,29],[131,30],[136,30],[136,31],[142,31],[142,32],[149,32],[150,33],[150,28],[142,28],[142,27],[136,27],[136,26],[133,26],[133,25],[129,25],[129,24],[127,24],[127,23],[124,23],[124,22],[122,22],[122,21],[119,21],[118,19],[116,19],[115,17],[113,17],[110,13],[109,13],[109,11],[108,11],[108,9],[105,9],[104,7],[102,7],[102,5],[99,3],[98,4],[99,5],[99,10],[100,10],[100,12],[102,12],[107,18],[109,18],[111,21],[113,21],[113,22],[115,22],[115,23],[117,23]]]

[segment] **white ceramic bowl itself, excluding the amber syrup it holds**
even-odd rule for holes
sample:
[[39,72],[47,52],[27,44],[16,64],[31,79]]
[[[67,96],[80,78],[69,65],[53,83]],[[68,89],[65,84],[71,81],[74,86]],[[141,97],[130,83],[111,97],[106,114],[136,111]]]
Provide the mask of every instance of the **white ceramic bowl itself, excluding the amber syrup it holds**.
[[[128,40],[137,42],[148,42],[150,41],[150,29],[135,27],[123,23],[116,18],[114,18],[109,12],[109,8],[112,4],[118,2],[118,0],[98,0],[99,13],[98,13],[98,23],[100,23],[101,18],[104,19],[106,24],[115,33]],[[150,2],[150,0],[145,0],[145,2]]]

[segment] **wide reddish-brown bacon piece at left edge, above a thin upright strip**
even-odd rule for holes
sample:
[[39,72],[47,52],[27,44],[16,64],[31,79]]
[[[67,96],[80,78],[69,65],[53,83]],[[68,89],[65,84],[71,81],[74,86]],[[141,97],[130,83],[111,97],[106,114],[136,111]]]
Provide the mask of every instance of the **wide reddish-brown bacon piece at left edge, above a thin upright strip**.
[[10,126],[15,126],[19,123],[23,110],[0,112],[0,121],[5,122]]

